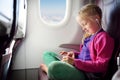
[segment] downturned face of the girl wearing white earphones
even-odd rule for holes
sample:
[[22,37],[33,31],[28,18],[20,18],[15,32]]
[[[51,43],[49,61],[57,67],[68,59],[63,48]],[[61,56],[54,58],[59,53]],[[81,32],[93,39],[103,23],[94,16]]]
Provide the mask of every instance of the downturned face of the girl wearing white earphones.
[[80,17],[77,17],[77,22],[80,24],[82,27],[82,30],[85,31],[88,34],[94,34],[98,31],[98,24],[96,21],[93,19],[81,19]]

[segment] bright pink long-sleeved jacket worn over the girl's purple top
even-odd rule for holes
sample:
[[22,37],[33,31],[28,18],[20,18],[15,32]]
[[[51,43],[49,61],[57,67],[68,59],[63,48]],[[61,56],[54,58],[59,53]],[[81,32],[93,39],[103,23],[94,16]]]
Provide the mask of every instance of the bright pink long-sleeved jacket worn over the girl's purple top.
[[[80,47],[81,49],[82,47]],[[74,59],[74,65],[86,72],[106,72],[114,49],[114,40],[104,31],[99,32],[89,45],[91,61]]]

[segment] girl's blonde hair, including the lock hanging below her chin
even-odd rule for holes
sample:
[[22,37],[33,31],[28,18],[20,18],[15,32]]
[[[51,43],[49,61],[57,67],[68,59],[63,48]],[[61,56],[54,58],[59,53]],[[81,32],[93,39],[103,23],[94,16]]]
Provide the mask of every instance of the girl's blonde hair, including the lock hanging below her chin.
[[[87,4],[80,9],[78,16],[82,19],[91,18],[93,16],[99,16],[100,22],[101,22],[102,11],[95,4]],[[82,44],[84,44],[84,39],[89,36],[91,36],[91,35],[88,33],[84,33],[83,38],[82,38]]]

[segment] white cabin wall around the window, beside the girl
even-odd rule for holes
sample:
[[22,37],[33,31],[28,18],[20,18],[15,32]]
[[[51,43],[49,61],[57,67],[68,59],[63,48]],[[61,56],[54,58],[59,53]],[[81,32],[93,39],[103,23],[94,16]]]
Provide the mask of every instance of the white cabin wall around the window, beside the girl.
[[69,50],[60,48],[60,44],[81,43],[82,31],[75,18],[82,1],[84,2],[72,0],[70,20],[67,24],[54,28],[40,20],[38,0],[28,0],[26,37],[16,52],[13,69],[38,68],[43,63],[44,51],[60,52]]

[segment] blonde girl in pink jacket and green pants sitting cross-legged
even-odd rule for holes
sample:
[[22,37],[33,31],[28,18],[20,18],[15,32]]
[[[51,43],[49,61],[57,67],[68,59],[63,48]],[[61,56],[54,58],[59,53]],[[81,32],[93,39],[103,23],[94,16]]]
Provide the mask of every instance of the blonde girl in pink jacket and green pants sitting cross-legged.
[[85,32],[79,52],[64,52],[62,60],[54,52],[45,52],[40,68],[52,80],[99,79],[107,70],[114,49],[114,40],[102,29],[102,11],[95,4],[81,8],[76,18]]

